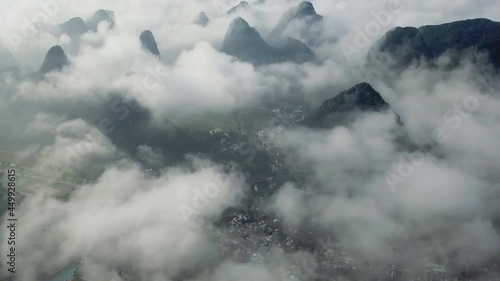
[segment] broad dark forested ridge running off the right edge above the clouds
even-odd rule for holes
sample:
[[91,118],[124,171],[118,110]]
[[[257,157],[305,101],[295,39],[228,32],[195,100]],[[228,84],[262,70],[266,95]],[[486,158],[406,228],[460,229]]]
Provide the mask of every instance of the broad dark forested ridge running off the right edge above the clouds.
[[368,62],[405,68],[418,61],[432,64],[448,53],[453,66],[464,56],[488,52],[491,62],[498,67],[499,49],[500,23],[471,19],[419,28],[396,27],[371,48]]

